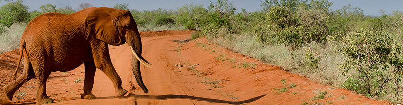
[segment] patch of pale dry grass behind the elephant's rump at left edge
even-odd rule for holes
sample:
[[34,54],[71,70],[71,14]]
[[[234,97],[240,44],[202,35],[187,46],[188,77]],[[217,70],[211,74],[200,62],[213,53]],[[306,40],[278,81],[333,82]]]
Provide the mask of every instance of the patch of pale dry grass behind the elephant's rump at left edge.
[[20,38],[27,26],[26,23],[14,23],[0,34],[0,53],[20,48]]

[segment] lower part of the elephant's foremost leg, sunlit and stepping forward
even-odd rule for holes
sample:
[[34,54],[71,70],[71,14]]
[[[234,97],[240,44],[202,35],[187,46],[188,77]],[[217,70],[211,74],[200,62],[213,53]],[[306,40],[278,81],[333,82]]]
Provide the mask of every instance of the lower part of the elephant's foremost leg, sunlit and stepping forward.
[[112,65],[112,62],[105,62],[106,66],[104,69],[101,69],[106,76],[113,82],[113,86],[115,87],[115,97],[124,96],[127,93],[127,90],[122,88],[122,79],[120,79],[117,74],[115,68]]

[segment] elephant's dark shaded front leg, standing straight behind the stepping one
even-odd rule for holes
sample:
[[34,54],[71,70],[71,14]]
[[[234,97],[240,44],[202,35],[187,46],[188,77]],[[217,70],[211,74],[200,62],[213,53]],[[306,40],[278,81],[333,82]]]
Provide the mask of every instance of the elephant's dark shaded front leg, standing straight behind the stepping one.
[[84,62],[85,76],[84,76],[84,93],[81,95],[82,99],[96,99],[92,94],[92,87],[94,86],[95,64],[94,62]]

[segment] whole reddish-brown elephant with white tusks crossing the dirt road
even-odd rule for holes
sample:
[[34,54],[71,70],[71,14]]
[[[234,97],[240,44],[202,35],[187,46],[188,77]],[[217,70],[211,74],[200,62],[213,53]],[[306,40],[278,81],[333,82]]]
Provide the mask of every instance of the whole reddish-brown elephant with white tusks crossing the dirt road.
[[143,89],[140,63],[152,68],[141,56],[142,45],[137,25],[130,11],[107,7],[91,7],[72,14],[46,13],[32,19],[20,40],[20,57],[14,77],[24,55],[23,73],[3,87],[9,100],[25,82],[36,78],[36,103],[53,102],[46,94],[46,80],[51,72],[66,72],[84,63],[82,99],[96,99],[91,90],[96,68],[113,82],[115,97],[124,96],[122,80],[112,65],[108,45],[130,46],[133,75]]

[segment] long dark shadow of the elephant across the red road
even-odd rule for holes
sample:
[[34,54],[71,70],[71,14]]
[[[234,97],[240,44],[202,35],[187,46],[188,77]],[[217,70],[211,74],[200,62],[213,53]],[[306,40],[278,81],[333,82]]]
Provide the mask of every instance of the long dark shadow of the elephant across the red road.
[[[167,99],[190,99],[190,100],[197,100],[197,101],[206,101],[211,103],[227,103],[227,104],[243,104],[243,103],[250,103],[254,102],[264,96],[260,95],[254,98],[250,98],[248,100],[243,101],[226,101],[226,100],[219,100],[219,99],[211,99],[211,98],[204,98],[204,97],[196,97],[196,96],[189,96],[189,95],[136,95],[136,94],[128,94],[127,96],[123,96],[121,98],[129,98],[134,96],[136,99],[154,99],[154,100],[167,100]],[[97,99],[111,99],[115,97],[98,97]]]

